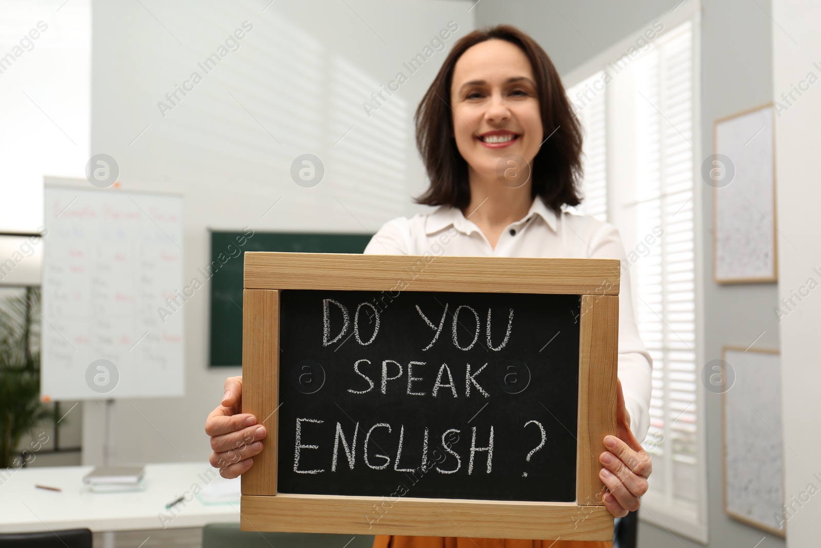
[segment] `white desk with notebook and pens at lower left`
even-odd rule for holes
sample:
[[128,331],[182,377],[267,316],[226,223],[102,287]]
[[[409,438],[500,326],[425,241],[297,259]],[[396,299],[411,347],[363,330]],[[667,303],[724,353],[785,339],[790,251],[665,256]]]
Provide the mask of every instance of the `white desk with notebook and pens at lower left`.
[[[82,481],[92,466],[10,469],[0,485],[0,532],[57,531],[89,528],[93,532],[203,527],[206,523],[240,521],[240,504],[203,504],[193,486],[228,481],[209,463],[146,464],[146,489],[136,493],[92,493]],[[207,472],[216,472],[209,481]],[[2,478],[0,478],[2,479]],[[236,480],[232,480],[236,481]],[[43,490],[34,484],[59,487]],[[172,509],[165,505],[186,494]],[[167,520],[158,518],[162,513]],[[165,527],[163,527],[163,525]]]

